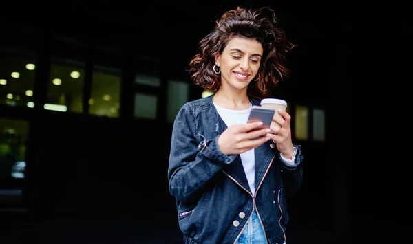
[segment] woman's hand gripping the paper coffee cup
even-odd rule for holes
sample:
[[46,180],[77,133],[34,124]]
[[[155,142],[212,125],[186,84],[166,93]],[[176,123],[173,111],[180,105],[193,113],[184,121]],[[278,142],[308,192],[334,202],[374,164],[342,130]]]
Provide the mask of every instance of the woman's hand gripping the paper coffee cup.
[[277,113],[279,113],[279,115],[281,116],[274,115],[273,122],[279,124],[281,127],[277,128],[274,123],[271,123],[270,129],[276,134],[267,133],[267,136],[270,137],[273,142],[275,142],[279,153],[281,153],[283,157],[291,159],[294,153],[290,128],[291,116],[286,111],[277,111]]

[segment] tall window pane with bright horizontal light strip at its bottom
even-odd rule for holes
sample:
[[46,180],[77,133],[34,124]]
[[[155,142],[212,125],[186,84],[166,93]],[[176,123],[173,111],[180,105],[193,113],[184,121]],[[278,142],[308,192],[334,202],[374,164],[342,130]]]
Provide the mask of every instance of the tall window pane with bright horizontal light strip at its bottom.
[[54,36],[45,109],[82,113],[85,44]]

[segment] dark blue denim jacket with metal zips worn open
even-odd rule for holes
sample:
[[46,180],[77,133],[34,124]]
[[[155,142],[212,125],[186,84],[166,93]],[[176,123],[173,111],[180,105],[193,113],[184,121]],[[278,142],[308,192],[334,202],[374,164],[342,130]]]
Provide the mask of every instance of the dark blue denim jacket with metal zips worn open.
[[271,140],[255,148],[253,197],[240,155],[225,155],[218,148],[226,124],[212,98],[187,102],[173,124],[169,192],[176,199],[184,243],[235,243],[254,209],[267,243],[284,243],[286,196],[297,192],[303,177],[301,146],[294,145],[293,165],[282,161]]

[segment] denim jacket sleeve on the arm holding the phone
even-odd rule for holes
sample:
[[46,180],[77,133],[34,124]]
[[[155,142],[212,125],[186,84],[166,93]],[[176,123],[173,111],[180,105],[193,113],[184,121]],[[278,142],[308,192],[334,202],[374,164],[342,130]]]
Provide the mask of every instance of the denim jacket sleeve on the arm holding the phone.
[[219,150],[217,138],[205,140],[195,133],[191,108],[180,109],[173,123],[169,153],[168,181],[173,197],[180,201],[202,192],[209,180],[233,159],[235,155],[224,155]]

